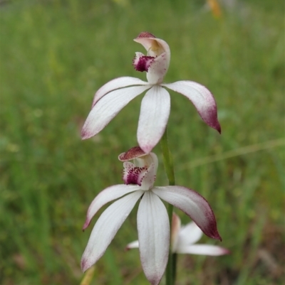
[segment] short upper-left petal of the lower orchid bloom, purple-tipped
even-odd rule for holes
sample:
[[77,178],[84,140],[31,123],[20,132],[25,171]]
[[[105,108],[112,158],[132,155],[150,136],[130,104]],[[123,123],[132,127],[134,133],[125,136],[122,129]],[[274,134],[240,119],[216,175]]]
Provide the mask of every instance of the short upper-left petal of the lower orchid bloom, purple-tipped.
[[97,213],[98,210],[101,207],[103,207],[103,205],[138,189],[140,189],[138,185],[125,185],[125,184],[113,185],[108,188],[105,188],[95,197],[95,199],[90,204],[87,211],[86,222],[83,225],[83,230],[85,230],[86,227],[88,227],[95,213]]

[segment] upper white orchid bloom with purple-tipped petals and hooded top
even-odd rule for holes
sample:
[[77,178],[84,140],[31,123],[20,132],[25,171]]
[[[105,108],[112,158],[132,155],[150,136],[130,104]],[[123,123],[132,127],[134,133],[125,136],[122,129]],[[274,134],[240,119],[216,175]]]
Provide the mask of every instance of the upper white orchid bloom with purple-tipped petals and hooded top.
[[98,134],[128,102],[148,90],[142,99],[138,122],[138,144],[148,154],[160,141],[170,115],[170,94],[164,87],[187,97],[204,122],[221,132],[216,102],[206,87],[192,81],[162,83],[170,64],[167,43],[147,32],[140,33],[134,41],[141,43],[147,50],[147,55],[136,53],[133,60],[136,70],[147,72],[147,82],[135,77],[118,77],[100,87],[83,126],[82,139]]

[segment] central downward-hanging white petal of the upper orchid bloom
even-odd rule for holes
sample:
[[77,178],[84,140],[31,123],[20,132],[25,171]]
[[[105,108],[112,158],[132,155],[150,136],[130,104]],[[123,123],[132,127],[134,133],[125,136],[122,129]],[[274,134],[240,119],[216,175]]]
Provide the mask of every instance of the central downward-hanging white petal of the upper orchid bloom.
[[142,99],[138,122],[138,144],[149,153],[165,132],[170,115],[170,95],[160,86],[153,86]]

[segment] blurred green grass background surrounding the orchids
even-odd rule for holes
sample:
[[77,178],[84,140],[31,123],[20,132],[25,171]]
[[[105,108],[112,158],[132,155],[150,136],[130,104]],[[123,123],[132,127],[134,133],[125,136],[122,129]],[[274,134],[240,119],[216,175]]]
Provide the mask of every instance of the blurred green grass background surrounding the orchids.
[[[117,156],[136,145],[142,96],[93,139],[81,141],[80,130],[105,82],[125,75],[145,80],[131,64],[135,51],[145,53],[133,42],[142,31],[170,45],[165,82],[206,85],[222,124],[220,136],[171,93],[177,185],[207,198],[220,245],[232,252],[180,256],[177,285],[281,284],[284,2],[219,3],[220,18],[202,0],[1,3],[0,284],[81,282],[92,228],[81,230],[86,210],[100,190],[122,183]],[[154,151],[161,161],[160,147]],[[166,184],[161,163],[156,185]],[[124,251],[136,239],[134,209],[91,284],[148,284],[138,251]]]

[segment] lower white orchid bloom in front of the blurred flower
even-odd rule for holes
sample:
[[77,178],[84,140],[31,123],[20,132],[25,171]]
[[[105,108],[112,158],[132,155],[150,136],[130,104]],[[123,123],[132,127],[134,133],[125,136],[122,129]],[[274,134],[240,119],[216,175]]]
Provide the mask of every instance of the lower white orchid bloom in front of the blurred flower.
[[[95,223],[81,267],[86,271],[98,261],[141,198],[137,220],[140,260],[145,276],[152,285],[156,285],[165,271],[170,246],[170,223],[160,198],[189,215],[205,235],[221,240],[216,219],[207,201],[194,190],[181,186],[154,186],[158,163],[155,154],[145,154],[140,147],[134,147],[120,154],[119,159],[125,161],[125,184],[110,186],[95,197],[88,209],[83,230],[103,205],[120,199],[110,205]],[[129,162],[132,159],[134,163]]]

